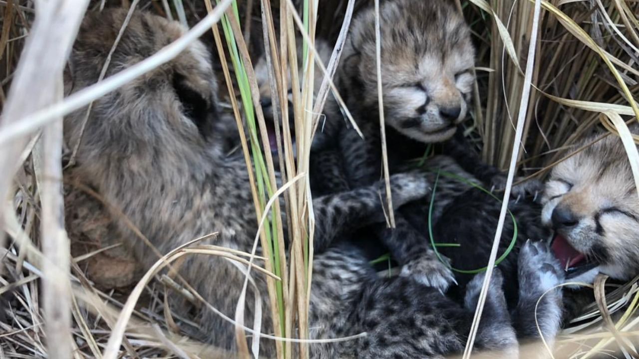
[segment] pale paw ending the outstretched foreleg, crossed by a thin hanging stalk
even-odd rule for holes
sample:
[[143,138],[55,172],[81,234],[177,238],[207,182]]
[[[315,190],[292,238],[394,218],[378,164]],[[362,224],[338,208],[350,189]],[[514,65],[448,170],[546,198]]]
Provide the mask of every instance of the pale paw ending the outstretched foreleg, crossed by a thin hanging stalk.
[[[386,184],[380,181],[381,193],[385,194]],[[393,199],[393,208],[399,208],[403,204],[422,199],[431,192],[429,181],[423,172],[406,172],[390,176],[390,190]]]

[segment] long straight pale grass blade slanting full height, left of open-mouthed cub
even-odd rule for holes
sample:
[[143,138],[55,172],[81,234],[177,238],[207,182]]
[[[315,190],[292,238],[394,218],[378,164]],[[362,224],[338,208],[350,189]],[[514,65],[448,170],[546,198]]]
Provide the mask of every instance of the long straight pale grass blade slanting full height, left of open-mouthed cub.
[[472,353],[473,344],[475,342],[475,336],[477,335],[479,321],[481,320],[481,313],[484,309],[484,303],[486,303],[486,294],[488,293],[488,286],[493,275],[493,268],[495,267],[495,259],[497,259],[497,250],[499,248],[499,241],[502,236],[502,229],[504,228],[504,220],[506,218],[506,211],[508,210],[508,198],[511,195],[512,179],[516,171],[516,164],[518,153],[521,145],[521,138],[523,137],[523,128],[526,118],[526,111],[528,108],[528,98],[532,89],[532,72],[535,63],[535,50],[537,46],[537,31],[539,29],[539,17],[541,13],[541,0],[535,0],[534,17],[532,20],[532,33],[530,45],[528,47],[528,61],[526,63],[526,71],[524,77],[524,86],[521,89],[521,103],[520,112],[518,114],[517,128],[514,143],[512,144],[511,164],[508,171],[508,177],[506,179],[506,188],[504,190],[504,199],[502,199],[502,208],[499,213],[499,219],[497,222],[497,230],[495,231],[495,239],[493,240],[493,248],[491,250],[490,259],[488,260],[488,266],[486,270],[486,277],[484,277],[484,284],[482,286],[481,293],[479,294],[479,300],[477,302],[477,309],[475,310],[475,317],[473,319],[472,326],[470,328],[470,335],[468,335],[468,341],[466,342],[466,348],[464,350],[464,359],[469,359]]

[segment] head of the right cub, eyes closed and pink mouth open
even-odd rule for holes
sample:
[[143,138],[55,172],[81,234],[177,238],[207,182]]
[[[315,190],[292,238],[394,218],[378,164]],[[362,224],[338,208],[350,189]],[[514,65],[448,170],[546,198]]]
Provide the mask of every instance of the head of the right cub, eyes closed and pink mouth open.
[[555,229],[552,247],[569,280],[639,274],[639,196],[619,137],[608,135],[556,165],[542,201],[542,221]]

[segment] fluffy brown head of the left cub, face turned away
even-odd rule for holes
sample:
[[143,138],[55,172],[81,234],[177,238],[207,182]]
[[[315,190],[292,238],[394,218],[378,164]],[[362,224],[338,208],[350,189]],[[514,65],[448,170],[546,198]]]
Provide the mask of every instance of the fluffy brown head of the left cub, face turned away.
[[[66,93],[97,82],[126,15],[123,9],[88,13],[65,73]],[[134,13],[105,78],[135,66],[183,33],[178,22]],[[75,146],[82,134],[78,161],[87,166],[114,160],[157,169],[160,163],[203,162],[203,153],[216,143],[215,81],[209,52],[194,42],[168,63],[98,98],[83,134],[86,108],[66,116],[65,139]]]

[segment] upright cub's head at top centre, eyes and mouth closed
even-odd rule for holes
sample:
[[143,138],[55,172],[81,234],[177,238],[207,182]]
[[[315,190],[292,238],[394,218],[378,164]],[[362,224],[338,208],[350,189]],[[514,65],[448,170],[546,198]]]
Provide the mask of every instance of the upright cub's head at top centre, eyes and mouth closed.
[[[475,50],[452,1],[394,0],[380,7],[386,122],[422,142],[451,137],[465,118]],[[374,10],[353,20],[339,70],[350,107],[378,113]]]

